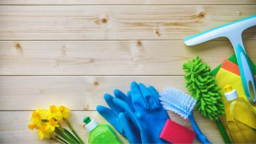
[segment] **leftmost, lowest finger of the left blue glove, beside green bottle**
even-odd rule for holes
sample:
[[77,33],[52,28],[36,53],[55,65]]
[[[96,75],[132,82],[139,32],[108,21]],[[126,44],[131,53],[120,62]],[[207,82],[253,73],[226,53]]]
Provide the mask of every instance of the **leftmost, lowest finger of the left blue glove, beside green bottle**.
[[120,134],[124,135],[124,131],[120,125],[120,122],[118,120],[118,116],[109,108],[106,108],[104,106],[97,106],[98,113],[103,116],[109,124],[111,124],[116,131],[118,131]]

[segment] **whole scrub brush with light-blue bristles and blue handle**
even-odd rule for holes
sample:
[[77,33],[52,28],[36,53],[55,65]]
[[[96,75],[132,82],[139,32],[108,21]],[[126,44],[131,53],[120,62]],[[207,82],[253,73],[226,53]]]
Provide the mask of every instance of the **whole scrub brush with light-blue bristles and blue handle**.
[[173,111],[183,118],[190,120],[193,130],[196,132],[196,138],[199,141],[202,143],[210,143],[206,136],[200,131],[193,116],[192,110],[196,105],[196,100],[193,99],[193,97],[190,97],[178,89],[166,88],[160,93],[159,99],[164,109]]

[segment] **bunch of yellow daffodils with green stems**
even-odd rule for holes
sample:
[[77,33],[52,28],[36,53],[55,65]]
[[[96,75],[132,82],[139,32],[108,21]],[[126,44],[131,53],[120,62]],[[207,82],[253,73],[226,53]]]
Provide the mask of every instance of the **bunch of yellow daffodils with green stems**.
[[[37,135],[39,140],[43,140],[44,138],[50,139],[51,136],[56,136],[56,139],[59,138],[58,140],[62,140],[62,137],[60,139],[60,136],[67,135],[72,137],[72,140],[68,137],[63,137],[68,143],[79,141],[79,143],[84,144],[83,140],[77,135],[76,131],[74,131],[72,125],[68,121],[69,117],[70,109],[65,106],[50,106],[47,110],[37,108],[32,113],[31,124],[28,125],[28,128],[31,130],[38,130]],[[74,136],[70,134],[67,129],[61,127],[61,124],[67,124]]]

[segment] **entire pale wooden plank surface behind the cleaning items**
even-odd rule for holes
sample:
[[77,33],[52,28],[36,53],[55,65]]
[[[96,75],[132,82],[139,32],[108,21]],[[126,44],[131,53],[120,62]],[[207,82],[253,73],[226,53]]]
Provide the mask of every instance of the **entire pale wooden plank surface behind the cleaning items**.
[[[225,38],[195,47],[182,38],[255,14],[255,0],[0,0],[0,143],[53,143],[27,128],[37,107],[72,109],[87,141],[84,116],[106,123],[95,111],[104,93],[127,92],[131,81],[186,91],[182,63],[198,54],[214,68],[234,51]],[[243,34],[254,62],[255,34]],[[195,117],[212,143],[223,143],[214,122]]]

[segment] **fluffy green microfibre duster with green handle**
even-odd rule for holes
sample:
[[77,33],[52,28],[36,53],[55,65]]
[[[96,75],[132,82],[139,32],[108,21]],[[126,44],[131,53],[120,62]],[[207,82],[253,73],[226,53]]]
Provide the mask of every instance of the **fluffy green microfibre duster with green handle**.
[[196,109],[201,111],[203,116],[211,120],[215,119],[223,140],[225,143],[231,143],[218,118],[225,111],[220,88],[216,84],[216,79],[211,76],[211,68],[206,63],[202,63],[199,56],[196,56],[195,59],[184,63],[183,70],[186,72],[186,87],[192,97],[198,101]]

